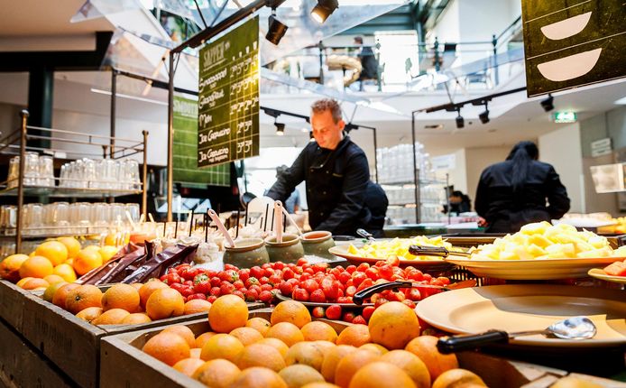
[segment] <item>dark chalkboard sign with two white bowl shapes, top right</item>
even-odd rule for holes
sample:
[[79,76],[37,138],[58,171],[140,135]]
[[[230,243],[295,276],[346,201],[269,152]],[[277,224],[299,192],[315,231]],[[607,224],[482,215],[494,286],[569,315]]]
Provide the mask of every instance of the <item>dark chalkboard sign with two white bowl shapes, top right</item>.
[[529,97],[626,77],[622,0],[522,0]]

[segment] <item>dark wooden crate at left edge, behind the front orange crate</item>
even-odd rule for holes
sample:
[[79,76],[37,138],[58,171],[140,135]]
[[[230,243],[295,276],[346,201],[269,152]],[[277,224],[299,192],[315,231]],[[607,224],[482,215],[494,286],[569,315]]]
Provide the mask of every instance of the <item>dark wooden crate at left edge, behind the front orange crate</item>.
[[[102,290],[106,288],[101,287]],[[10,282],[0,281],[0,300],[3,306],[0,318],[20,333],[27,343],[65,371],[74,383],[83,387],[98,385],[100,340],[103,337],[186,322],[206,315],[200,313],[139,325],[97,327]],[[262,307],[263,303],[248,304],[248,309]]]

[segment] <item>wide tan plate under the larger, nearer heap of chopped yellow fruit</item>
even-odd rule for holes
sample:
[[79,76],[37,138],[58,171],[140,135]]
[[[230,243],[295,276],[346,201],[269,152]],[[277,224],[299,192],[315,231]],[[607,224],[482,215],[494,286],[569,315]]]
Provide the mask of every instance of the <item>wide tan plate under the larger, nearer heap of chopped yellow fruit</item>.
[[535,260],[472,260],[448,256],[446,262],[462,265],[476,276],[506,280],[551,280],[587,277],[595,267],[624,260],[624,257],[591,259],[535,259]]

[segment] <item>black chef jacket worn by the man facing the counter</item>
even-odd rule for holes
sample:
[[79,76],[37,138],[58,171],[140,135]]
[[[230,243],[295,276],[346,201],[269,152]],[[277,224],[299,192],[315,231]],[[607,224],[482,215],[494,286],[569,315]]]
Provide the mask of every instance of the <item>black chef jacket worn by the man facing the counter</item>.
[[284,201],[302,180],[311,228],[354,235],[357,228],[367,227],[371,214],[364,201],[370,168],[363,150],[348,136],[333,151],[308,143],[267,196]]

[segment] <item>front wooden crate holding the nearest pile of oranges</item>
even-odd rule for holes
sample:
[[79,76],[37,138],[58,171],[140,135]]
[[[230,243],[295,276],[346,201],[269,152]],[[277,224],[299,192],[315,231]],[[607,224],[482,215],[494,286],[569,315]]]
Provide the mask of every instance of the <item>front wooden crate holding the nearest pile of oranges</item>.
[[[249,317],[270,319],[272,309],[257,309],[250,312]],[[318,319],[314,319],[318,320]],[[351,324],[321,319],[340,333]],[[198,319],[184,323],[198,336],[210,331],[207,319]],[[170,325],[171,326],[171,325]],[[181,374],[169,365],[148,356],[142,350],[145,343],[166,328],[148,328],[141,331],[128,332],[102,339],[100,386],[167,386],[167,387],[203,387],[203,383]],[[548,368],[541,365],[511,361],[508,359],[488,356],[478,352],[461,352],[456,355],[459,366],[480,375],[490,387],[532,387],[544,388],[555,383],[559,378],[568,375],[566,371]],[[576,374],[585,380],[601,386],[620,386],[618,382]]]

